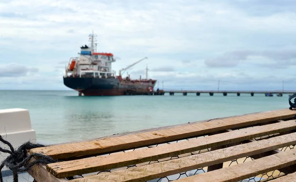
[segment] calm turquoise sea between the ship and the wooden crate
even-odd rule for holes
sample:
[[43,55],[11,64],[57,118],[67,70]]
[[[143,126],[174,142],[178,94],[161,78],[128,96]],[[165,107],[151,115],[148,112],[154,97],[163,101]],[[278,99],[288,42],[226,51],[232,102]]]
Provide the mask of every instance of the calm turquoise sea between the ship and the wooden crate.
[[289,108],[288,95],[188,93],[135,96],[77,96],[76,91],[0,91],[0,109],[30,111],[37,141],[51,144]]

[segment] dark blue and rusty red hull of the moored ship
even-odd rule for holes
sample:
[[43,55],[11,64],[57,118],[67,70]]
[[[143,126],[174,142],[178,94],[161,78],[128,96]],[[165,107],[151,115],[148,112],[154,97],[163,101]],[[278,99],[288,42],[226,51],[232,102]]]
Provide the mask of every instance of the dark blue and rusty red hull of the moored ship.
[[86,96],[151,94],[154,85],[124,85],[117,78],[64,77],[64,85]]

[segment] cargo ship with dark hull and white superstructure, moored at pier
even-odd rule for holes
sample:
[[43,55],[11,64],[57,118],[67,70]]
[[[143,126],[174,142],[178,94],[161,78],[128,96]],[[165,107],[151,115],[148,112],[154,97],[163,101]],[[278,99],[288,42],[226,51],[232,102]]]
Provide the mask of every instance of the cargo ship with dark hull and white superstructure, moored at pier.
[[70,58],[66,65],[63,77],[64,85],[75,91],[78,95],[112,96],[112,95],[152,95],[157,80],[146,78],[131,79],[130,75],[122,77],[127,69],[148,59],[147,57],[119,70],[119,74],[112,70],[112,63],[116,60],[112,53],[97,52],[96,35],[89,34],[90,45],[80,47],[78,57]]

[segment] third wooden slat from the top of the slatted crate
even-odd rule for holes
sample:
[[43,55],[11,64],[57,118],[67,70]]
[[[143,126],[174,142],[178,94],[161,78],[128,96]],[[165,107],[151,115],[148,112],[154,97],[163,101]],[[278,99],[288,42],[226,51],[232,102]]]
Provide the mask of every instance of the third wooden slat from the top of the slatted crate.
[[296,133],[291,133],[160,163],[114,171],[108,174],[88,176],[83,179],[73,180],[73,182],[145,182],[294,144],[296,144]]

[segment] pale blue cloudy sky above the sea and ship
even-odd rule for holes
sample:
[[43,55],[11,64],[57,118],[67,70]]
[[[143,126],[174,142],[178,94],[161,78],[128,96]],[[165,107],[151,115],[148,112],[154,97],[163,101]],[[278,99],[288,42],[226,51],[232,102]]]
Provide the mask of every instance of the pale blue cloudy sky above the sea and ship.
[[[70,90],[88,35],[160,89],[296,90],[295,0],[0,0],[0,90]],[[163,83],[163,87],[162,87]],[[284,84],[283,84],[284,83]]]

